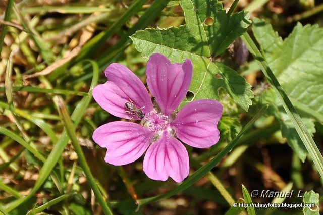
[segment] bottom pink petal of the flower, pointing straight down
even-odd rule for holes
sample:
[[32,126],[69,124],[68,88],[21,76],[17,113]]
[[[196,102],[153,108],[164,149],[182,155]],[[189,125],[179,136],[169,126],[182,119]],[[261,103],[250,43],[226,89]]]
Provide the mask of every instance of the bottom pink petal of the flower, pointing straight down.
[[171,177],[181,182],[188,176],[189,159],[185,146],[164,132],[153,142],[143,159],[143,171],[153,180],[166,181]]

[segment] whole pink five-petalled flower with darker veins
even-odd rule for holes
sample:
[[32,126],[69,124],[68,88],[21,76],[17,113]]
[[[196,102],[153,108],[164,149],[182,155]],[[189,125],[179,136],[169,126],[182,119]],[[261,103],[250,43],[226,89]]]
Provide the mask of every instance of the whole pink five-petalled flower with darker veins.
[[[110,114],[140,120],[125,104],[142,111],[143,126],[133,122],[111,122],[98,127],[93,140],[107,148],[105,162],[126,165],[137,160],[147,149],[143,171],[153,180],[171,177],[181,182],[188,176],[189,159],[185,146],[208,148],[219,141],[217,124],[222,105],[216,100],[195,100],[176,114],[192,80],[192,62],[171,64],[163,55],[153,54],[147,62],[146,75],[150,93],[127,67],[111,64],[104,71],[108,81],[93,89],[96,102]],[[178,139],[177,139],[178,138]]]

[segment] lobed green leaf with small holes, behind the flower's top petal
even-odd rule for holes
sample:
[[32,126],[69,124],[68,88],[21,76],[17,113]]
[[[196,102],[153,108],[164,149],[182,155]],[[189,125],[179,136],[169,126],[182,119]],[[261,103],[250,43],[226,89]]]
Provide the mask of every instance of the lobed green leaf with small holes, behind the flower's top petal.
[[[245,111],[253,97],[250,85],[237,72],[214,57],[220,55],[250,25],[249,14],[235,13],[227,16],[222,4],[217,0],[183,0],[180,2],[185,25],[168,29],[147,28],[131,36],[136,49],[143,57],[158,52],[171,62],[183,62],[189,58],[193,62],[193,78],[189,91],[194,99],[211,98],[219,100],[218,90],[225,88],[230,96]],[[221,79],[216,78],[216,74]],[[185,99],[182,103],[187,103]]]

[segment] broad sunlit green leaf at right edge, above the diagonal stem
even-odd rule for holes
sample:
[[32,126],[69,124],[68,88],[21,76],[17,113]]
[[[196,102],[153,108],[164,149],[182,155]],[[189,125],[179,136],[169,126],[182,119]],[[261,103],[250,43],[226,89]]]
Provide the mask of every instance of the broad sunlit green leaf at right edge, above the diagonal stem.
[[284,41],[259,19],[252,30],[292,103],[323,122],[323,29],[298,23]]

